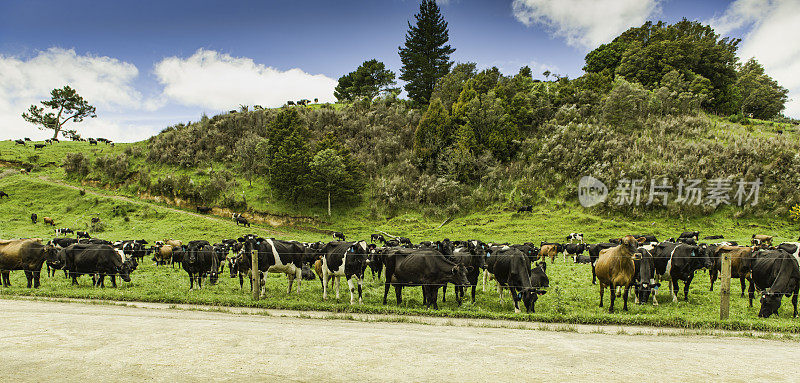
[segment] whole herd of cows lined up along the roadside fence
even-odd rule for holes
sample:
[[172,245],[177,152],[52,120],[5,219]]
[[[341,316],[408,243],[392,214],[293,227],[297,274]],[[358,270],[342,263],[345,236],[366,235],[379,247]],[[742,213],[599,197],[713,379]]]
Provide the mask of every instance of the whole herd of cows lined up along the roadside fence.
[[[62,232],[61,234],[65,234]],[[83,233],[82,233],[83,234]],[[535,312],[537,299],[547,292],[548,259],[552,264],[559,253],[565,259],[592,266],[592,283],[599,281],[600,307],[603,295],[609,288],[609,311],[614,311],[617,297],[623,299],[623,310],[628,309],[628,294],[634,289],[635,302],[644,304],[652,299],[658,305],[656,293],[661,281],[669,281],[673,301],[678,301],[679,281],[683,281],[683,298],[688,301],[689,288],[695,272],[709,270],[713,291],[721,269],[721,259],[729,256],[731,277],[741,282],[744,297],[745,282],[749,281],[748,297],[753,305],[756,290],[761,293],[760,317],[776,314],[783,296],[791,297],[794,316],[797,316],[797,296],[800,289],[800,243],[772,245],[772,237],[753,235],[750,246],[735,242],[701,243],[699,232],[685,232],[677,239],[659,242],[652,235],[626,235],[607,243],[586,244],[581,233],[571,233],[570,243],[542,242],[496,244],[479,240],[423,241],[412,244],[408,238],[374,234],[367,241],[345,241],[342,233],[334,232],[333,241],[303,243],[274,238],[244,235],[211,244],[206,240],[184,243],[178,240],[146,240],[109,242],[97,238],[56,237],[43,243],[40,239],[0,241],[0,275],[3,286],[9,285],[9,271],[24,270],[28,287],[39,287],[39,273],[43,264],[48,275],[64,270],[65,276],[78,284],[78,277],[91,275],[93,286],[104,286],[109,276],[116,287],[116,276],[129,282],[130,274],[151,257],[156,265],[180,265],[189,276],[189,288],[202,287],[206,277],[211,284],[218,281],[228,265],[231,278],[250,279],[252,257],[257,256],[258,275],[266,293],[264,277],[267,273],[286,274],[287,293],[297,282],[300,291],[302,280],[319,279],[322,299],[327,299],[330,281],[334,282],[339,299],[341,277],[347,281],[350,303],[362,302],[362,282],[367,268],[373,278],[381,278],[385,270],[383,304],[391,287],[395,289],[397,304],[402,303],[404,287],[422,288],[423,304],[438,308],[438,294],[446,299],[447,285],[455,286],[455,297],[460,304],[467,289],[475,302],[476,288],[483,276],[483,289],[494,279],[500,302],[503,292],[509,290],[514,310],[520,312],[521,301],[528,312]],[[704,239],[722,239],[721,236]],[[380,243],[380,246],[376,243]],[[587,252],[588,255],[583,253]],[[315,276],[316,274],[316,276]],[[251,290],[252,290],[252,279]],[[588,281],[587,281],[588,283]]]

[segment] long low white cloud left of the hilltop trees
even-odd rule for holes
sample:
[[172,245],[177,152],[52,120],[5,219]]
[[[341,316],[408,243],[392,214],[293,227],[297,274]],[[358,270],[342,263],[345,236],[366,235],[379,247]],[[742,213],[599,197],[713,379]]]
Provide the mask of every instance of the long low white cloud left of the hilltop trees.
[[164,96],[183,105],[219,110],[239,104],[276,107],[287,100],[335,101],[336,80],[300,69],[280,71],[246,57],[200,49],[188,58],[169,57],[155,66]]

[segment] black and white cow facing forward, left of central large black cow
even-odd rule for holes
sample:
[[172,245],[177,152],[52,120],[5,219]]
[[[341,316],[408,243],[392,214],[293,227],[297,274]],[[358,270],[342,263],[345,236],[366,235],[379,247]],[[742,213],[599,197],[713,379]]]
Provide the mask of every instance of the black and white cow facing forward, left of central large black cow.
[[350,289],[350,304],[355,303],[353,279],[356,280],[360,304],[363,301],[361,287],[364,267],[369,259],[367,243],[333,241],[325,245],[320,254],[322,254],[322,299],[328,298],[328,281],[332,278],[335,278],[336,299],[339,299],[339,282],[341,277],[344,277]]

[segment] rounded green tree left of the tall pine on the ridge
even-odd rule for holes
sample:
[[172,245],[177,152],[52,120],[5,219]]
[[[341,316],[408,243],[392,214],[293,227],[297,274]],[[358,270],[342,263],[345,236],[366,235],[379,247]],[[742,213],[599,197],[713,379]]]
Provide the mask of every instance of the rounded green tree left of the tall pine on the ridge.
[[364,61],[358,68],[342,77],[333,90],[333,95],[339,101],[355,101],[362,98],[373,98],[388,92],[398,92],[400,88],[393,87],[394,72],[386,69],[382,62],[372,59]]

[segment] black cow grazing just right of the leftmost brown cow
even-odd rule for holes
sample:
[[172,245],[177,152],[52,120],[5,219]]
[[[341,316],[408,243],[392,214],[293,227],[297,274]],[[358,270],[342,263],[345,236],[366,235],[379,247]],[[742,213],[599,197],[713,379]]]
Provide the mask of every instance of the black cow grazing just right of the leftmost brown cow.
[[69,271],[73,285],[77,285],[78,277],[84,274],[92,275],[92,286],[105,287],[106,275],[111,277],[114,287],[117,287],[117,275],[125,282],[131,281],[134,262],[123,260],[123,256],[111,246],[76,243],[61,251],[66,262],[64,269]]

